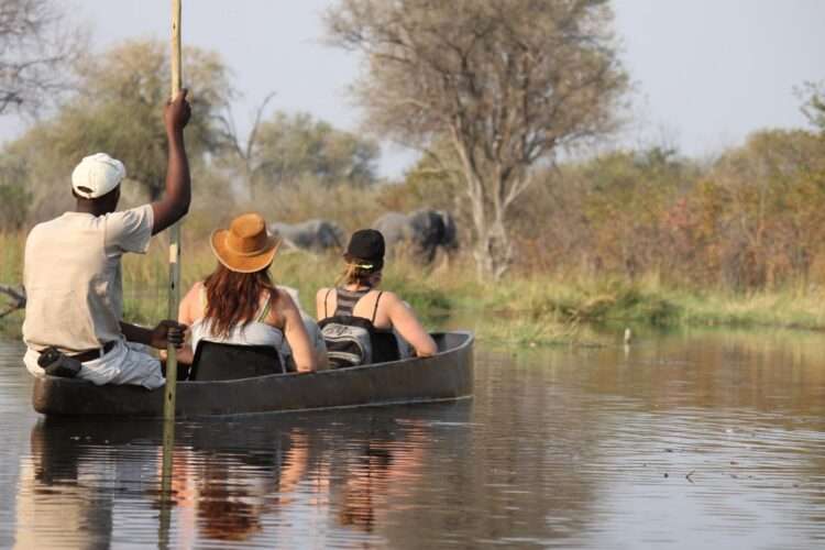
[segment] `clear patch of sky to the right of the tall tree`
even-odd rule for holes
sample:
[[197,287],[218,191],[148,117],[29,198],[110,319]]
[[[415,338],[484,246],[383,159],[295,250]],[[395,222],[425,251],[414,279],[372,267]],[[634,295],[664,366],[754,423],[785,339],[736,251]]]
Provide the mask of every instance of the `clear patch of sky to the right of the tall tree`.
[[[805,127],[794,88],[825,80],[825,1],[616,0],[642,140],[705,156]],[[638,125],[638,124],[637,124]]]

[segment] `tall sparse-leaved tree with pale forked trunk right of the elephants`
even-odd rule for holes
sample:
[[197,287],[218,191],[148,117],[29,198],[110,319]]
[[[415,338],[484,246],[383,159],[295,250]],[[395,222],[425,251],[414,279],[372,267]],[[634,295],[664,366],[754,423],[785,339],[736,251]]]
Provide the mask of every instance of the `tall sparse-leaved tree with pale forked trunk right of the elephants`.
[[610,22],[606,0],[341,0],[327,13],[331,41],[366,55],[355,92],[370,127],[419,147],[449,140],[476,264],[496,278],[531,168],[615,127],[627,76]]

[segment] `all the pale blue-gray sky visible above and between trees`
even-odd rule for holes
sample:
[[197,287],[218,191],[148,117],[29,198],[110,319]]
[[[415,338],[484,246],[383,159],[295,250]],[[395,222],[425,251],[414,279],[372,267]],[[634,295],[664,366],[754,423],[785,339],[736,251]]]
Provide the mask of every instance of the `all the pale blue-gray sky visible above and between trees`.
[[[482,0],[479,0],[482,1]],[[129,37],[168,38],[169,0],[63,0],[96,50]],[[271,91],[272,109],[307,111],[363,131],[348,87],[356,54],[322,43],[331,0],[184,0],[184,44],[218,51],[242,96],[241,131]],[[794,88],[825,80],[825,0],[614,0],[615,30],[634,82],[619,144],[676,146],[710,156],[762,128],[806,121]],[[184,80],[186,74],[184,68]],[[0,119],[0,138],[24,128]],[[386,146],[380,172],[398,176],[415,155]]]

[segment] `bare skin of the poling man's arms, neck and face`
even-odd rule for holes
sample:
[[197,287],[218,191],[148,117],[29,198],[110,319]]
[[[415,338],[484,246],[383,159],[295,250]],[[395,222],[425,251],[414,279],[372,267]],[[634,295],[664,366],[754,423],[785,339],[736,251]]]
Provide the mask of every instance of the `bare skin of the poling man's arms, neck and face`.
[[[189,122],[191,110],[186,100],[187,90],[166,105],[163,113],[166,139],[168,142],[168,161],[166,164],[166,191],[157,202],[152,202],[154,223],[152,234],[155,235],[174,224],[189,211],[191,201],[191,182],[189,179],[189,161],[184,147],[184,128]],[[92,216],[103,216],[114,212],[120,200],[120,185],[102,197],[87,199],[74,190],[77,199],[75,211]],[[167,343],[179,348],[184,343],[186,326],[173,320],[163,320],[154,329],[144,329],[120,321],[120,330],[130,342],[165,350]]]

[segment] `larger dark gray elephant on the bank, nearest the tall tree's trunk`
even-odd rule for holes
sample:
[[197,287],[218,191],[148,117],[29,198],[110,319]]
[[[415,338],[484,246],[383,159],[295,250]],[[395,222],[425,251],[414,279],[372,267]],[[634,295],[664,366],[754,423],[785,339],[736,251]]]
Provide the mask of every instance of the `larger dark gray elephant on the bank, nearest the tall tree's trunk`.
[[419,260],[431,263],[439,248],[448,253],[459,248],[455,220],[443,210],[416,210],[409,215],[387,212],[373,222],[387,249],[406,245]]

